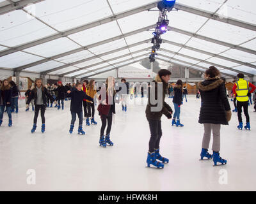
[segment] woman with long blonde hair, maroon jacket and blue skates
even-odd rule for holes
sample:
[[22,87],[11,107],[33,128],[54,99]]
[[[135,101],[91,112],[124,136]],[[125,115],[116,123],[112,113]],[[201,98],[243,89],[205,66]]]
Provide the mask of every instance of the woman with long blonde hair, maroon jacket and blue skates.
[[[120,91],[120,90],[119,90]],[[100,96],[99,96],[99,106],[98,111],[100,115],[100,119],[102,122],[100,128],[100,147],[106,147],[107,144],[113,146],[114,143],[110,140],[110,131],[113,122],[113,115],[116,113],[115,108],[115,78],[108,77],[106,80],[106,87],[102,87],[100,89]],[[119,103],[119,101],[117,101]],[[106,131],[106,137],[104,136],[104,131],[108,124],[108,128]]]

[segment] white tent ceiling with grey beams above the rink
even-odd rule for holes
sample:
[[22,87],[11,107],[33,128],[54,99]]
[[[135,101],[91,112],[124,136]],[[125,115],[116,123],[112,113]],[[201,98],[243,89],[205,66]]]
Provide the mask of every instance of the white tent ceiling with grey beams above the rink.
[[[0,69],[92,77],[148,57],[153,0],[0,0]],[[256,75],[256,1],[177,0],[158,60]]]

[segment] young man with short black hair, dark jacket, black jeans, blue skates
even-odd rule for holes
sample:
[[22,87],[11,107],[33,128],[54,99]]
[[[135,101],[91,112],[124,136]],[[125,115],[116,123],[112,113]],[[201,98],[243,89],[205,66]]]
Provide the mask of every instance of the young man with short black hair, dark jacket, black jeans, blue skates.
[[[168,69],[160,69],[156,79],[150,83],[146,108],[146,117],[151,134],[147,157],[148,167],[153,165],[157,168],[164,168],[164,163],[169,163],[169,159],[160,155],[159,149],[162,136],[161,117],[164,114],[168,119],[172,119],[173,113],[172,108],[164,101],[171,75],[172,73]],[[158,98],[159,94],[160,98]]]

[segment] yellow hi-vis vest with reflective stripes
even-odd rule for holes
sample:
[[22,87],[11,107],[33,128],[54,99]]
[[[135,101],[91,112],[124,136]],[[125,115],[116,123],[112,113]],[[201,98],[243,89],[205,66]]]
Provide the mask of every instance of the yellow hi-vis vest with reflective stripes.
[[236,82],[236,99],[240,102],[245,102],[249,100],[249,97],[247,96],[249,92],[249,82],[244,80],[243,78],[240,78],[238,82]]

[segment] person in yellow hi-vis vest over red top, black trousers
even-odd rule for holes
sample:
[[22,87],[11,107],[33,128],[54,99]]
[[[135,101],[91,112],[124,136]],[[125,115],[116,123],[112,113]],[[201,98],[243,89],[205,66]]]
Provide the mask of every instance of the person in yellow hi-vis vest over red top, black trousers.
[[[244,80],[244,75],[242,73],[239,73],[237,75],[239,80],[236,82],[236,84],[233,87],[234,96],[236,96],[237,99],[237,115],[239,120],[239,126],[237,126],[238,129],[243,129],[243,120],[242,120],[242,107],[244,108],[244,115],[246,117],[246,126],[244,126],[245,129],[250,130],[250,117],[248,113],[248,102],[249,102],[249,96],[255,91],[256,87],[255,85],[251,84],[250,82]],[[249,92],[249,88],[252,88],[252,90]]]

